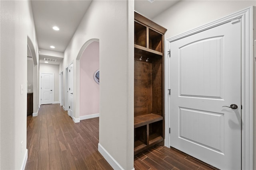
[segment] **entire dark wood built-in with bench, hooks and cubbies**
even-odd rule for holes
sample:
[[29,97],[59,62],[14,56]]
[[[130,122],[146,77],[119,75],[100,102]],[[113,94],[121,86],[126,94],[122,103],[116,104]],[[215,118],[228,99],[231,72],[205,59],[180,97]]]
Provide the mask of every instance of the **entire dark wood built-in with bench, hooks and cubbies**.
[[164,33],[134,12],[134,154],[164,142]]

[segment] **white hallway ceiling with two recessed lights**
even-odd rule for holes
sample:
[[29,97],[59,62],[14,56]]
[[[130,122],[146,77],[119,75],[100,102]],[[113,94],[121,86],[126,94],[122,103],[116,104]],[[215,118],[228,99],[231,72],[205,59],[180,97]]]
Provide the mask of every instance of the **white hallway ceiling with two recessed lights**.
[[[40,49],[64,52],[91,0],[32,0]],[[52,29],[58,26],[59,31]],[[55,49],[51,49],[53,45]]]

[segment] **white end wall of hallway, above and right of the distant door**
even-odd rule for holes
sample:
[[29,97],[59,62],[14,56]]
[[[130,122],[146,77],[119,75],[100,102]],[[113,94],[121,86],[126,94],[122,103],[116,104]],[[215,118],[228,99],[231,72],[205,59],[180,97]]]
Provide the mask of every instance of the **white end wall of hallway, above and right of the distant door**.
[[54,104],[60,103],[59,101],[59,65],[56,64],[39,64],[39,72],[53,73],[54,74]]

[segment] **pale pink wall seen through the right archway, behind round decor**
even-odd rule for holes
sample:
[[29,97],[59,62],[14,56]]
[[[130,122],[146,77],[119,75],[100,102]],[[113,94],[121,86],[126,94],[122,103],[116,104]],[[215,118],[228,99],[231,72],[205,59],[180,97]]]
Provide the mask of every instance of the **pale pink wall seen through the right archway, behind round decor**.
[[100,86],[94,80],[99,69],[99,43],[88,45],[80,58],[80,117],[99,113]]

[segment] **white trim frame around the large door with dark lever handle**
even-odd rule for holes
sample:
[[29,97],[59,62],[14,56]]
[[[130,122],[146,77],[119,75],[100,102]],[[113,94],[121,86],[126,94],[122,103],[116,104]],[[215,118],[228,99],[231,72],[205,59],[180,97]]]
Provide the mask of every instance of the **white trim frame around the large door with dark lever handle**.
[[[186,33],[177,35],[175,37],[166,39],[166,62],[165,62],[165,72],[167,73],[170,68],[168,62],[170,59],[167,52],[170,50],[170,42],[188,37],[195,33],[222,25],[229,21],[241,18],[242,24],[242,54],[241,54],[241,92],[242,92],[242,169],[248,170],[253,169],[253,7],[248,7],[244,10],[231,14],[225,18],[214,21],[212,23],[206,24],[202,27],[198,27]],[[172,53],[172,52],[171,52]],[[168,104],[170,104],[170,96],[167,95],[169,86],[168,75],[165,74],[165,143],[166,147],[170,143],[169,127],[170,127],[170,112]]]

